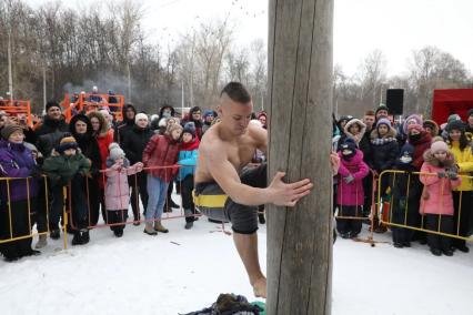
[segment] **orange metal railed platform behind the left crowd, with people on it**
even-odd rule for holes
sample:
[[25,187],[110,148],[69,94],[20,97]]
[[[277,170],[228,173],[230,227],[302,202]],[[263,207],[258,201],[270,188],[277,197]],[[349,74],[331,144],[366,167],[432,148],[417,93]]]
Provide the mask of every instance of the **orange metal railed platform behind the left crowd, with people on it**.
[[101,108],[109,108],[110,113],[117,121],[122,121],[122,108],[124,105],[123,95],[95,94],[95,93],[66,93],[61,102],[66,121],[69,122],[76,113],[97,111]]

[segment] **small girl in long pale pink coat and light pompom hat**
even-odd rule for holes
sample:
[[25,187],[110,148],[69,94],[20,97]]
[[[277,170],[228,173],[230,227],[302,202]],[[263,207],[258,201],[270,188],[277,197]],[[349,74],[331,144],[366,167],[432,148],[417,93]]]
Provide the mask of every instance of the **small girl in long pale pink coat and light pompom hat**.
[[109,145],[110,154],[107,159],[105,209],[107,224],[117,237],[123,236],[124,223],[128,217],[130,189],[128,176],[141,172],[143,163],[138,162],[130,166],[123,150],[115,142]]

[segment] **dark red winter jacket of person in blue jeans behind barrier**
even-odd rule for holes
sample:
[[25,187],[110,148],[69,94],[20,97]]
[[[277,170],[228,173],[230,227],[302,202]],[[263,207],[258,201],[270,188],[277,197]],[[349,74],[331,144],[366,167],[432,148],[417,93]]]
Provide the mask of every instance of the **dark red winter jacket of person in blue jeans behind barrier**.
[[155,177],[160,177],[164,182],[172,181],[178,169],[162,166],[175,165],[178,162],[179,150],[179,142],[173,140],[171,135],[153,135],[143,151],[143,164],[144,167],[160,169],[147,170],[147,173]]

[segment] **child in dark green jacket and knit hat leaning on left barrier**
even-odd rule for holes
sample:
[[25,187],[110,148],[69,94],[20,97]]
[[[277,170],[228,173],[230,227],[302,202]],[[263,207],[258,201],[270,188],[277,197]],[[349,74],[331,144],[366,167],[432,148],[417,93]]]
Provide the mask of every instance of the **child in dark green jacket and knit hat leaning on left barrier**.
[[[51,180],[52,189],[58,186],[66,186],[70,184],[70,199],[71,199],[71,213],[73,238],[72,245],[87,244],[89,237],[89,211],[87,204],[87,185],[85,179],[89,176],[91,162],[88,160],[80,150],[73,136],[64,136],[51,154],[44,161],[42,166],[43,171]],[[59,190],[62,192],[62,190]],[[54,197],[62,197],[54,196]],[[61,209],[52,209],[50,217],[52,221],[59,222]]]

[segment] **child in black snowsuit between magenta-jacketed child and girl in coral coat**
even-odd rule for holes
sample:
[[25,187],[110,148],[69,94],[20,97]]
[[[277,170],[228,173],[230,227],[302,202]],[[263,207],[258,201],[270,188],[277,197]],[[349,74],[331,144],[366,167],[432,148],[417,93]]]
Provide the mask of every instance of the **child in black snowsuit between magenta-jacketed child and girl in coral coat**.
[[[395,162],[394,170],[402,173],[391,174],[390,186],[392,187],[392,217],[390,221],[395,224],[415,226],[417,207],[413,206],[416,200],[416,191],[421,186],[419,175],[413,175],[416,167],[412,164],[414,161],[414,146],[406,143],[402,146],[400,156]],[[409,195],[407,195],[409,194]],[[411,247],[413,231],[410,228],[392,226],[393,245],[396,248]]]

